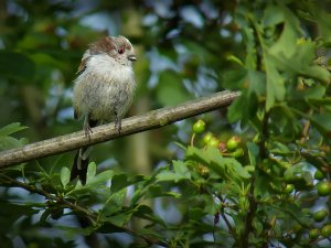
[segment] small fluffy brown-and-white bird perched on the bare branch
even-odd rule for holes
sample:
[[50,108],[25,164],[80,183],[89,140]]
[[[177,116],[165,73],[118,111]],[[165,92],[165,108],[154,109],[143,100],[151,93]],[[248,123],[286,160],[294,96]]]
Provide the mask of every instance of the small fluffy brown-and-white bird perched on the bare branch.
[[[134,46],[125,36],[106,36],[85,51],[74,86],[75,119],[84,118],[83,129],[89,138],[92,128],[115,121],[118,132],[121,118],[129,109],[136,88]],[[81,148],[74,160],[71,181],[86,183],[90,147]]]

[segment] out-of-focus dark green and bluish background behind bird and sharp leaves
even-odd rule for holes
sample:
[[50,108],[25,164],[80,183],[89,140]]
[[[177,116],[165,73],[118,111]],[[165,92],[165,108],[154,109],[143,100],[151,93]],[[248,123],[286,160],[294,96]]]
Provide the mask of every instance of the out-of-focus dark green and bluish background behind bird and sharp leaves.
[[[19,139],[25,137],[21,143],[81,130],[82,121],[73,118],[73,80],[88,43],[104,35],[125,35],[137,51],[135,73],[138,87],[128,116],[220,91],[223,75],[239,67],[233,55],[245,60],[249,45],[244,44],[245,37],[236,24],[241,20],[234,20],[234,12],[243,6],[250,8],[249,12],[255,3],[259,8],[267,6],[264,2],[268,1],[0,1],[0,127],[12,122],[29,127],[14,134]],[[319,1],[323,9],[330,8],[328,3]],[[290,8],[299,4],[299,1],[292,1]],[[245,11],[241,10],[242,13]],[[263,10],[259,14],[263,15]],[[314,25],[305,24],[307,34],[317,33]],[[227,123],[225,111],[206,114],[203,119],[210,131],[229,137],[239,128]],[[189,143],[193,121],[195,118],[98,144],[92,160],[97,163],[98,172],[111,169],[128,174],[149,174],[181,157],[175,142]],[[0,142],[0,151],[17,145],[15,141],[11,144],[7,140],[6,145]],[[56,164],[52,170],[60,171],[63,166],[71,168],[73,157],[74,152],[68,152],[33,161],[26,170],[35,173],[41,164],[47,171]],[[0,190],[1,196],[12,202],[44,201],[23,190]],[[148,204],[167,223],[182,220],[180,209],[167,201],[156,200]],[[26,217],[21,216],[24,209],[17,207],[9,213],[10,205],[3,204],[1,208],[0,238],[4,237],[3,234],[13,238],[14,247],[35,248],[42,244],[47,244],[47,247],[74,247],[74,244],[85,247],[83,236],[75,229],[68,231],[68,227],[79,226],[70,216],[54,222],[50,219],[40,226],[39,213],[26,212]],[[62,231],[61,225],[66,231]],[[139,228],[140,224],[135,225]],[[90,240],[95,247],[125,247],[131,241],[131,237],[125,234],[98,237],[99,242]],[[212,240],[212,237],[204,238]],[[1,244],[7,245],[0,239]]]

